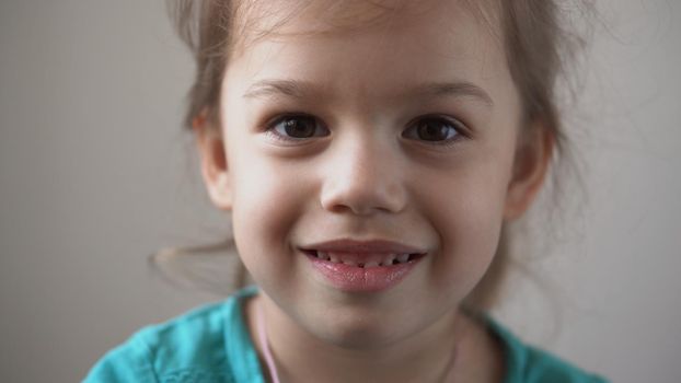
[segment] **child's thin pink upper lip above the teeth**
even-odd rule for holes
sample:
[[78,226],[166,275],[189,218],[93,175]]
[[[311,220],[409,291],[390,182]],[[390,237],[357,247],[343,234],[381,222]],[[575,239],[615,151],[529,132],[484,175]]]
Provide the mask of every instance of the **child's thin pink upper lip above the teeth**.
[[425,251],[401,242],[386,240],[357,241],[351,239],[318,242],[301,247],[304,251],[338,252],[338,253],[390,253],[390,254],[424,254]]

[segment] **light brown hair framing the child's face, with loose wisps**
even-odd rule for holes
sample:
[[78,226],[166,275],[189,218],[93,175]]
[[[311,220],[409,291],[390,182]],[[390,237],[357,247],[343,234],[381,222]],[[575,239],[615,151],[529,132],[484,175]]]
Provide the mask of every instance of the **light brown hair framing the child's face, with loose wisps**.
[[[368,1],[368,0],[367,0]],[[451,0],[457,1],[457,0]],[[463,1],[463,0],[459,0]],[[303,8],[314,1],[291,1]],[[257,1],[230,0],[170,0],[169,5],[176,30],[191,48],[196,61],[196,78],[188,94],[188,108],[184,125],[192,129],[197,118],[205,118],[210,126],[220,126],[219,105],[221,83],[230,55],[245,35],[249,25],[244,15],[249,7]],[[473,4],[474,3],[474,4]],[[574,62],[575,54],[585,39],[569,24],[573,14],[588,15],[592,9],[590,1],[557,0],[489,0],[466,1],[466,4],[481,10],[481,3],[492,5],[496,13],[493,19],[498,24],[500,38],[506,49],[506,58],[512,80],[518,88],[522,107],[523,125],[540,120],[544,129],[554,138],[554,167],[569,165],[568,137],[562,124],[556,100],[556,83],[567,66]],[[288,5],[288,4],[287,4]],[[292,5],[291,5],[292,7]],[[297,8],[300,10],[300,8]],[[478,15],[489,12],[477,12]],[[295,12],[290,13],[293,16]],[[282,18],[282,23],[286,18]],[[487,21],[489,22],[489,21]],[[269,32],[274,31],[274,26]],[[268,31],[259,31],[266,35]],[[558,161],[559,160],[559,161]],[[552,181],[557,182],[556,172]],[[556,187],[554,187],[556,188]],[[559,189],[559,188],[556,188]],[[516,240],[516,239],[513,239]],[[198,248],[217,251],[229,246],[230,242]],[[483,280],[466,299],[466,306],[473,311],[488,310],[500,291],[507,275],[511,235],[505,224],[494,260]],[[196,249],[196,248],[195,248]],[[175,251],[172,254],[192,253]],[[165,253],[166,255],[170,253]],[[158,257],[159,259],[162,257]],[[157,259],[154,257],[154,259]],[[242,266],[240,266],[242,267]],[[236,272],[235,283],[244,282],[244,272]]]

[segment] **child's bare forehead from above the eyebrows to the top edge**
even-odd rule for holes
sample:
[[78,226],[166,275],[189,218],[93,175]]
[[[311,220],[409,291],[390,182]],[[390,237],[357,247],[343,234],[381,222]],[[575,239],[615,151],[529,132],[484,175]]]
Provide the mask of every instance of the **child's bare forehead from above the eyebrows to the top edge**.
[[498,23],[481,3],[254,1],[242,11],[243,39],[228,74],[302,78],[330,93],[351,88],[383,98],[408,94],[409,82],[486,88],[510,74]]

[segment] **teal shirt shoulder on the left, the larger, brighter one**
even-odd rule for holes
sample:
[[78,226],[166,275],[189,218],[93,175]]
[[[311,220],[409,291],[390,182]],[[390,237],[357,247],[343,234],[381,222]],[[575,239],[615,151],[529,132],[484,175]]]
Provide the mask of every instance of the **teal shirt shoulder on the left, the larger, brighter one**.
[[97,361],[84,381],[234,382],[239,371],[230,363],[230,349],[250,345],[241,320],[244,295],[141,328]]

